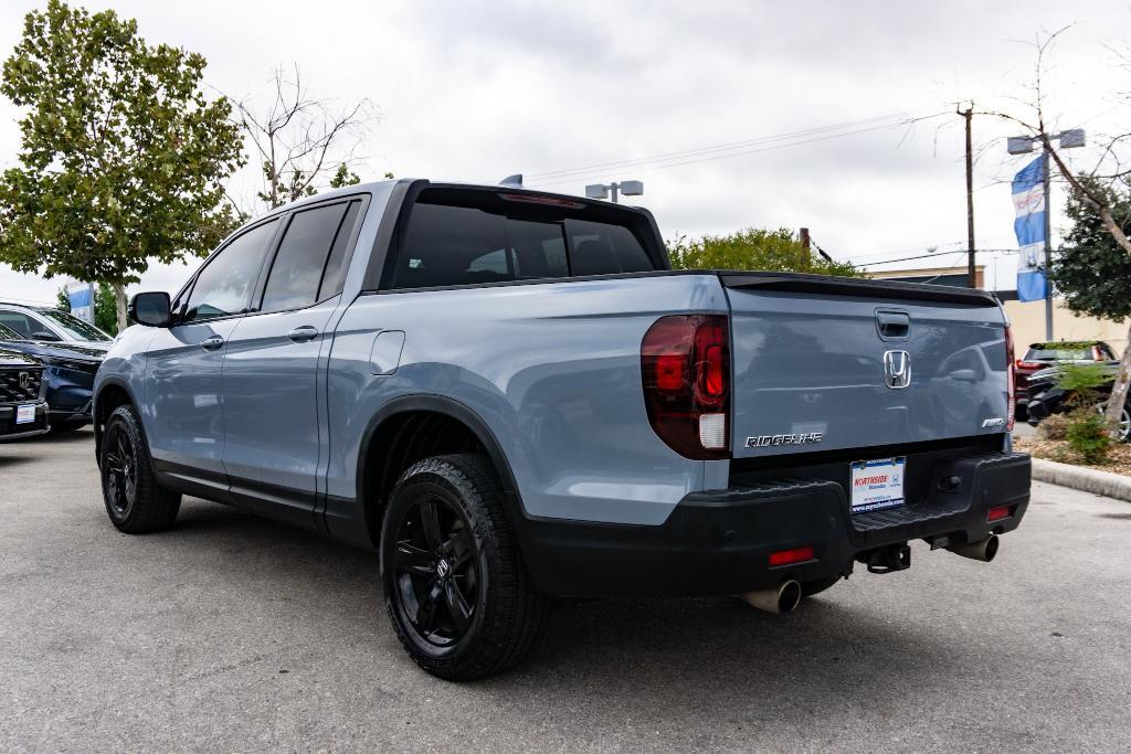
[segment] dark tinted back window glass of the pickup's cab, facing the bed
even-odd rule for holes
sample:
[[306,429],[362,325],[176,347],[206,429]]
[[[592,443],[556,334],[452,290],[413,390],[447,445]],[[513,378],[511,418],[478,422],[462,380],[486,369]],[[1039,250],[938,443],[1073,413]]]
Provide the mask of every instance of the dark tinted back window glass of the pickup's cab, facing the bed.
[[483,285],[656,269],[627,225],[577,219],[542,206],[486,203],[414,205],[389,287]]

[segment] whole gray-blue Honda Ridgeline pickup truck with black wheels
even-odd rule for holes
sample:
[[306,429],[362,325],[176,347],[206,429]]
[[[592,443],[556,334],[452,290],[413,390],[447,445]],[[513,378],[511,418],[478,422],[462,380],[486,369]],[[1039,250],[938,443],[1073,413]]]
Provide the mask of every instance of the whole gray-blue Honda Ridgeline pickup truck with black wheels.
[[351,187],[130,315],[95,384],[114,526],[187,494],[372,548],[443,678],[518,662],[554,595],[786,613],[912,539],[990,561],[1029,501],[993,296],[673,271],[644,209]]

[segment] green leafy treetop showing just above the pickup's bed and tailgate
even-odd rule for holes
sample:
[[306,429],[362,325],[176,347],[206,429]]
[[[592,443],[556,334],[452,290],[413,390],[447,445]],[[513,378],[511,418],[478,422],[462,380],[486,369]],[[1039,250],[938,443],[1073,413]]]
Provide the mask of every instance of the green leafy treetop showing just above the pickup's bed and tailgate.
[[675,269],[860,275],[848,262],[830,261],[805,249],[788,228],[745,228],[729,235],[705,235],[691,241],[680,236],[668,241],[667,253]]

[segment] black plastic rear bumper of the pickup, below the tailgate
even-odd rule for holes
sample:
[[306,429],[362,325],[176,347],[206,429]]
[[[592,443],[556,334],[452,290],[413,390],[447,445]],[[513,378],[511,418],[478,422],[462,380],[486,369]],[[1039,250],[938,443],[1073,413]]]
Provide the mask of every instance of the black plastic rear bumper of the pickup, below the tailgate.
[[[726,595],[786,579],[847,574],[857,555],[910,539],[949,545],[1017,528],[1029,503],[1029,457],[983,453],[935,459],[930,494],[898,509],[853,515],[844,485],[760,479],[687,496],[658,527],[524,525],[535,587],[558,595]],[[959,477],[952,492],[936,482]],[[991,508],[1011,515],[986,520]],[[770,567],[770,553],[813,547],[806,563]]]

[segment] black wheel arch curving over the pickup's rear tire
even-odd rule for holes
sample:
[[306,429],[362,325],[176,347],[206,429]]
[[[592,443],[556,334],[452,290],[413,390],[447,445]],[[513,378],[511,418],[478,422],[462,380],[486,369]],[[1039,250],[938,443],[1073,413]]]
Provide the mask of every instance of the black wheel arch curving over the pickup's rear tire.
[[404,396],[369,422],[357,453],[356,494],[371,544],[380,544],[388,493],[412,463],[450,452],[482,452],[499,475],[516,529],[521,518],[518,484],[502,444],[470,407],[442,396]]

